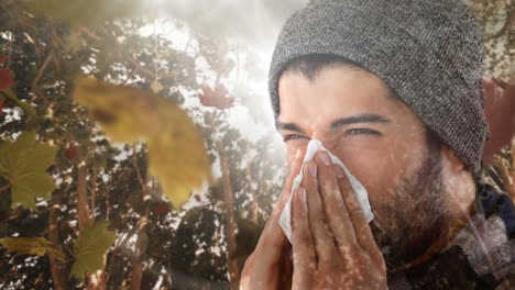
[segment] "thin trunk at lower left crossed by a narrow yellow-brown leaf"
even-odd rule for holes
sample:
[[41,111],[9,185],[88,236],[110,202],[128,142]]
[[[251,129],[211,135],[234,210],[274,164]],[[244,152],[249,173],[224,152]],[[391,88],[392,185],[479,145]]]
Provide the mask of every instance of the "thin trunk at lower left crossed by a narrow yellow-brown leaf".
[[[57,214],[63,199],[63,191],[56,190],[52,199],[52,209],[48,214],[48,241],[57,249],[62,249],[59,239],[59,227],[57,223]],[[68,269],[65,264],[59,263],[54,254],[50,253],[50,263],[52,271],[52,282],[56,290],[68,290]]]

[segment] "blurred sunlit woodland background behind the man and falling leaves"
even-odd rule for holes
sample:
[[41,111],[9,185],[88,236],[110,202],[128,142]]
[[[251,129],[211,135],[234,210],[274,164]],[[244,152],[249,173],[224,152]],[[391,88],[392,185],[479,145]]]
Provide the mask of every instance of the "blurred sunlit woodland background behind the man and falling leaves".
[[[40,169],[55,188],[23,193],[35,199],[31,207],[13,202],[22,193],[0,164],[0,237],[46,241],[30,239],[18,254],[0,246],[0,289],[238,289],[286,174],[269,64],[282,24],[306,2],[0,0],[0,160],[23,157],[1,146],[28,131],[56,149]],[[467,2],[485,38],[485,77],[508,86],[515,3]],[[146,144],[111,142],[72,99],[81,75],[184,109],[204,136],[212,181],[172,207],[147,172]],[[503,96],[506,87],[492,90]],[[154,113],[138,105],[128,103],[127,114]],[[172,121],[160,126],[180,125]],[[514,193],[511,147],[487,170]],[[92,238],[108,236],[88,230],[106,220],[113,237]],[[95,260],[77,254],[88,231]],[[70,277],[77,261],[81,276]]]

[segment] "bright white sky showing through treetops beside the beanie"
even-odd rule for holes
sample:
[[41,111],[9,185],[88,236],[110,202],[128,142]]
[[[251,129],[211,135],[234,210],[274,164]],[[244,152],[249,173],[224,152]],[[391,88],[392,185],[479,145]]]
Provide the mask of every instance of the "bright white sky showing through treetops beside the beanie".
[[[253,96],[252,105],[265,108],[264,123],[256,123],[249,112],[249,105],[237,105],[228,110],[228,121],[239,129],[249,140],[258,141],[264,134],[274,132],[275,144],[281,146],[281,137],[273,129],[273,112],[267,92],[266,72],[272,58],[276,37],[286,19],[297,9],[302,8],[307,0],[177,0],[162,1],[151,0],[152,4],[162,7],[160,18],[141,29],[142,35],[153,35],[154,33],[167,37],[177,49],[189,49],[186,53],[195,55],[195,41],[189,43],[189,31],[195,31],[206,37],[224,38],[229,43],[242,47],[240,51],[240,69],[228,76],[226,86],[238,97],[238,85],[243,85],[246,96]],[[180,29],[166,19],[180,19],[187,27]],[[189,43],[189,46],[187,44]],[[258,58],[255,71],[244,69],[245,59],[249,55]],[[201,64],[200,64],[201,66]],[[209,72],[206,72],[209,79]],[[213,77],[211,77],[213,79]],[[215,85],[215,83],[212,83]],[[187,92],[185,92],[187,94]],[[193,93],[195,94],[195,93]],[[200,105],[198,98],[185,96],[184,107]],[[278,148],[284,149],[284,148]],[[213,177],[220,176],[217,165],[213,166]],[[196,190],[195,193],[205,191]],[[197,202],[190,200],[185,208],[195,207]]]

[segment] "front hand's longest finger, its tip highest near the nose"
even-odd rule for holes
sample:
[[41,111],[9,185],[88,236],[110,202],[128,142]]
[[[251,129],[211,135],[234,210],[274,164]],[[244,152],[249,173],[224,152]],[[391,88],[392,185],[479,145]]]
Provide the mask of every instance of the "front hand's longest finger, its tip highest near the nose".
[[[326,159],[327,158],[327,159]],[[349,212],[343,203],[342,192],[338,186],[335,169],[326,152],[318,152],[316,156],[318,165],[318,183],[324,209],[329,220],[338,249],[343,255],[351,246],[357,246],[354,226],[349,217]],[[346,192],[343,192],[346,194]]]

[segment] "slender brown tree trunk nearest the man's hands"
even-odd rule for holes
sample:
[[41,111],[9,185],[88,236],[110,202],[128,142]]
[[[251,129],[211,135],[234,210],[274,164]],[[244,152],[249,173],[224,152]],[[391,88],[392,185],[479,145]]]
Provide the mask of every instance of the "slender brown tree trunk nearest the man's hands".
[[232,187],[229,178],[229,169],[227,165],[226,153],[220,143],[218,143],[218,152],[220,153],[220,167],[223,178],[223,197],[226,204],[226,236],[227,236],[227,264],[229,268],[229,277],[231,289],[238,290],[240,285],[240,272],[238,268],[238,260],[234,257],[237,249],[235,242],[235,221],[234,221],[234,202],[232,196]]

